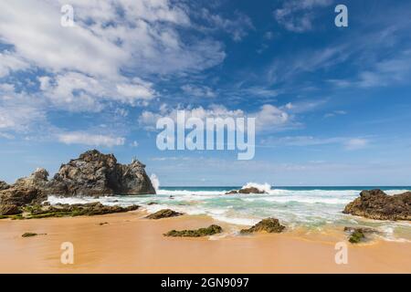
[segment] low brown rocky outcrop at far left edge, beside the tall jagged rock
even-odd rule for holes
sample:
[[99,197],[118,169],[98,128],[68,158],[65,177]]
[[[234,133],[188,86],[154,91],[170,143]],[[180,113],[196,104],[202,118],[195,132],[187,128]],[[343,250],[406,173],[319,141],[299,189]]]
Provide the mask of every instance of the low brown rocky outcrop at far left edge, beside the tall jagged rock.
[[47,195],[37,188],[13,186],[0,191],[0,215],[21,214],[23,206],[46,200]]

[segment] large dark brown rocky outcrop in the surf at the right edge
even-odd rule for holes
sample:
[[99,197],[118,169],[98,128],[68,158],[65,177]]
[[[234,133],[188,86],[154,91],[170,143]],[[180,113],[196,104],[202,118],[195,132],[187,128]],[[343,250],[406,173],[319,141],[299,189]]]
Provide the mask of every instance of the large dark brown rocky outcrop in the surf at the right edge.
[[363,191],[342,213],[375,220],[411,220],[411,192],[387,195],[381,190]]

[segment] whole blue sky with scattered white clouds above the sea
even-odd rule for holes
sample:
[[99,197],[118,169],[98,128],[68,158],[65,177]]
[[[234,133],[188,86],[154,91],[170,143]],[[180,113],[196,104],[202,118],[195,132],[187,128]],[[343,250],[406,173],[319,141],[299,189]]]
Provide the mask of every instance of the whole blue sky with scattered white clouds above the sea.
[[[60,25],[74,8],[75,26]],[[349,26],[334,25],[348,7]],[[410,185],[409,1],[3,1],[0,180],[91,148],[162,185]],[[256,117],[256,156],[159,151],[155,121]]]

